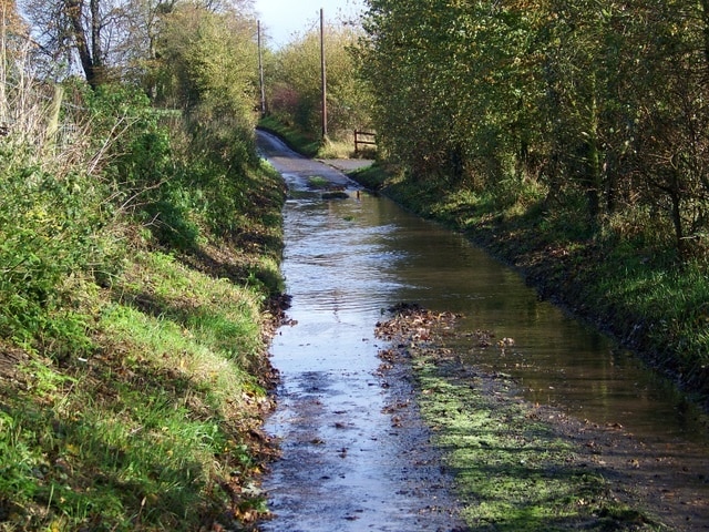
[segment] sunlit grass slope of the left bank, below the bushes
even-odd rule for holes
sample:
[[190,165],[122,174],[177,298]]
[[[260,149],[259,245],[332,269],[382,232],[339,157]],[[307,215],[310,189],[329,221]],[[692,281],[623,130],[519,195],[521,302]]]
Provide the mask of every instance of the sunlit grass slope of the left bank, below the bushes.
[[250,530],[266,512],[284,196],[255,172],[271,192],[238,237],[175,255],[134,227],[110,282],[66,280],[84,349],[0,341],[0,531]]

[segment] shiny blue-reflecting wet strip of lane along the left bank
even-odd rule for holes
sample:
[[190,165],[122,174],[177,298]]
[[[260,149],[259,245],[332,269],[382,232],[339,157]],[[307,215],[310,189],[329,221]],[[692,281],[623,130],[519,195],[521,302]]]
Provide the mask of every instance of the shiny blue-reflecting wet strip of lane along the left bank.
[[[290,188],[282,272],[292,297],[291,325],[271,345],[281,382],[266,430],[282,459],[264,481],[275,518],[261,530],[459,530],[452,479],[409,401],[407,376],[378,374],[374,326],[397,286],[380,273],[373,233],[388,228],[352,225],[363,208],[358,185],[336,162],[302,158],[261,132],[259,149]],[[332,213],[314,177],[343,190],[336,201],[345,214]],[[357,235],[347,254],[331,245],[339,233]],[[347,268],[358,275],[342,276]]]

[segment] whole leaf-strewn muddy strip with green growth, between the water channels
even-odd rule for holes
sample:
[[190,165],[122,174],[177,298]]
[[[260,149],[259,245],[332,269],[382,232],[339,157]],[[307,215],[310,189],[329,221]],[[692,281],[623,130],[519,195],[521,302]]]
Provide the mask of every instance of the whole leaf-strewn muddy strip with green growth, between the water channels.
[[[533,405],[510,376],[484,372],[445,347],[472,335],[504,350],[512,338],[459,331],[455,315],[415,304],[390,311],[377,325],[389,342],[380,374],[412,376],[474,530],[709,530],[707,503],[693,488],[708,481],[701,457],[653,450],[621,426]],[[679,459],[681,468],[669,463]]]

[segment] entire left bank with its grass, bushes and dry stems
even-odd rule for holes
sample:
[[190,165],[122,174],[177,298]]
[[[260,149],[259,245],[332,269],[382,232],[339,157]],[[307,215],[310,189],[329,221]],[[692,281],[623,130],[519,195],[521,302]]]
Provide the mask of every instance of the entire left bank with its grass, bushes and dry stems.
[[0,137],[0,530],[248,528],[281,177],[248,122],[79,84],[59,135],[23,89]]

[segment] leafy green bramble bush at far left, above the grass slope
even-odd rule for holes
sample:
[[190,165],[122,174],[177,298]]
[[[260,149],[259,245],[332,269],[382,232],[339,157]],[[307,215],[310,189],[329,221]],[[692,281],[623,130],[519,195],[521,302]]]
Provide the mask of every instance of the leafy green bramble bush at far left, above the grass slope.
[[[30,123],[39,127],[41,102],[28,105],[34,105],[24,112],[37,113]],[[54,154],[49,142],[29,140],[45,140],[43,133],[13,131],[0,139],[0,335],[28,347],[49,342],[60,356],[89,347],[84,317],[65,285],[102,268],[103,250],[112,247],[102,243],[112,208],[105,183],[88,172],[91,153],[76,164],[76,153],[65,153],[72,146]],[[74,146],[81,150],[82,141]]]

